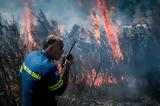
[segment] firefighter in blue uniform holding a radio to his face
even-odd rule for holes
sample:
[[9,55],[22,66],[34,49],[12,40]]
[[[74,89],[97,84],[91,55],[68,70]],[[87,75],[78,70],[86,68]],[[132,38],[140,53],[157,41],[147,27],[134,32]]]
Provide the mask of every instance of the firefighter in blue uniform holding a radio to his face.
[[63,40],[49,35],[43,50],[29,53],[20,69],[23,106],[56,106],[55,95],[62,95],[68,85],[72,55],[66,56],[63,75],[54,63],[63,54]]

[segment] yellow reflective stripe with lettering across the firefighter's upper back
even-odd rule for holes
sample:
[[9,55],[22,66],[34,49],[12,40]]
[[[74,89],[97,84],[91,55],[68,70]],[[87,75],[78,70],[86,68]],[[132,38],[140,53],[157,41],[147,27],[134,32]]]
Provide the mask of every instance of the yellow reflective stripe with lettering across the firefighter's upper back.
[[22,69],[24,69],[28,74],[30,74],[33,78],[35,79],[38,79],[40,80],[41,79],[41,76],[36,74],[35,72],[31,71],[24,63],[23,65],[21,66],[21,69],[20,69],[20,73],[22,72]]

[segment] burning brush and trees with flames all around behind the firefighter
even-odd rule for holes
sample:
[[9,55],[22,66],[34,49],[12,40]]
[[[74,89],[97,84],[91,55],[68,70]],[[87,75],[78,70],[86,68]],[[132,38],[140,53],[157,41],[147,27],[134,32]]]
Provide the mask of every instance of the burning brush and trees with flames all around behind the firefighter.
[[[77,2],[83,7],[82,0]],[[55,20],[48,21],[42,10],[33,9],[28,0],[25,0],[22,34],[14,19],[9,23],[0,17],[0,105],[20,104],[21,61],[29,51],[40,49],[48,34],[62,35],[64,54],[77,42],[72,51],[74,65],[70,84],[65,94],[58,97],[59,106],[158,104],[160,43],[152,29],[155,22],[151,24],[143,17],[128,27],[119,28],[105,4],[105,0],[97,0],[99,14],[92,9],[91,20],[88,20],[91,29],[75,24],[70,32]],[[60,63],[57,61],[63,73]]]

